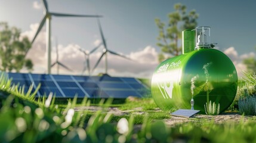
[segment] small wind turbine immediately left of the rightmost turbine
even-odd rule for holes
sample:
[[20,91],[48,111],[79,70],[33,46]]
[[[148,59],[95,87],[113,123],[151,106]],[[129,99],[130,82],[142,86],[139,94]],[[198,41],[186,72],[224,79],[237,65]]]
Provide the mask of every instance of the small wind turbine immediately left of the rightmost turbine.
[[96,46],[94,49],[92,49],[90,52],[85,51],[82,48],[79,48],[79,51],[81,51],[82,53],[84,53],[85,55],[85,61],[84,61],[84,69],[82,70],[82,74],[84,74],[85,70],[88,70],[88,75],[90,76],[91,74],[91,69],[90,69],[90,54],[92,54],[92,52],[95,52],[98,48],[100,48],[100,46],[102,45],[102,43],[100,43],[98,46]]

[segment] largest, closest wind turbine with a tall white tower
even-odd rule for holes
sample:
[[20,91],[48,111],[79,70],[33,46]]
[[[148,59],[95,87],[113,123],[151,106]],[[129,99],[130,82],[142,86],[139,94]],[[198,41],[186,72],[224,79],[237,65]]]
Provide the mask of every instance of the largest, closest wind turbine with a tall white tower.
[[63,13],[51,13],[48,10],[48,4],[46,0],[42,0],[44,3],[44,17],[42,18],[41,23],[39,24],[38,30],[36,31],[36,34],[32,40],[32,43],[35,41],[36,36],[38,36],[38,33],[42,29],[42,27],[45,24],[46,21],[46,52],[47,52],[47,73],[51,74],[51,16],[57,16],[57,17],[101,17],[100,15],[77,15],[77,14],[63,14]]

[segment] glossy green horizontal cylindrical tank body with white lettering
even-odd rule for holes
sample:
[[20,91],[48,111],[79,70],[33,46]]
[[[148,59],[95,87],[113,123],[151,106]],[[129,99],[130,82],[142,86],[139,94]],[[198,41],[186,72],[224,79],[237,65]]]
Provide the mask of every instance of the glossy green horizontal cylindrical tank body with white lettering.
[[235,66],[217,49],[188,51],[163,61],[156,68],[151,86],[153,99],[159,108],[167,111],[190,109],[193,98],[193,108],[201,113],[205,113],[204,105],[209,101],[219,103],[220,113],[223,112],[236,96],[238,74]]

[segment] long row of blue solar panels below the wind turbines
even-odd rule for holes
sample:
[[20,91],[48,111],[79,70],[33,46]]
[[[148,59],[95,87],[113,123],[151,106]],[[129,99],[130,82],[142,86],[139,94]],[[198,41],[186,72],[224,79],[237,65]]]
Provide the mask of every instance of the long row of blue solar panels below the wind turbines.
[[12,83],[24,86],[25,92],[33,83],[33,91],[41,83],[36,97],[53,92],[56,98],[127,98],[144,97],[149,88],[132,77],[73,76],[59,74],[7,73]]

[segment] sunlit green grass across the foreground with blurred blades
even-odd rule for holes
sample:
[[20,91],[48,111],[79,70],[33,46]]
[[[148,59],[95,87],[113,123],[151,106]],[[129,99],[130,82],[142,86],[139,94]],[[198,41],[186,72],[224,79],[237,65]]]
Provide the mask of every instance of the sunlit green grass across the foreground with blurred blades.
[[169,126],[174,117],[152,98],[55,104],[0,79],[0,142],[256,142],[255,116],[225,122],[196,116]]

